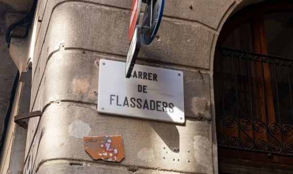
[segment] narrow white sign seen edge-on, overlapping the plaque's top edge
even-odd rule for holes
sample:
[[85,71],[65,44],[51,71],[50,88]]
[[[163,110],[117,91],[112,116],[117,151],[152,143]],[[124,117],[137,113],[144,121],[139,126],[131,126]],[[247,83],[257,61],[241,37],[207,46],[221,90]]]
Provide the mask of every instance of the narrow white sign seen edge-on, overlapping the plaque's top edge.
[[140,49],[140,26],[137,25],[126,57],[125,77],[130,78]]

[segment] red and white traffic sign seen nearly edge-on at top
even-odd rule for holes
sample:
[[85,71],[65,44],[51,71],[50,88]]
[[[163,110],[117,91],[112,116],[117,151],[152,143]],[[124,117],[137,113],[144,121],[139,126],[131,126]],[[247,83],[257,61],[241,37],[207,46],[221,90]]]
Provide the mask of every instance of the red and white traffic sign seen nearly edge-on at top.
[[139,15],[141,9],[141,0],[132,0],[132,7],[130,10],[130,24],[129,24],[129,31],[128,31],[128,41],[132,40],[134,35],[136,25],[139,22]]

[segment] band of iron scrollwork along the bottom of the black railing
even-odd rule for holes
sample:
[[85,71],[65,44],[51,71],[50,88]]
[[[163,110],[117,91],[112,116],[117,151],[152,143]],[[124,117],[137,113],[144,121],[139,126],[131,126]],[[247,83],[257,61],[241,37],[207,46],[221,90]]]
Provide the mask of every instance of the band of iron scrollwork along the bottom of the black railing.
[[[224,135],[219,126],[226,130]],[[293,156],[293,126],[263,121],[252,123],[249,119],[237,121],[234,117],[216,118],[217,142],[220,146]],[[238,133],[240,131],[240,134]],[[226,135],[225,135],[226,134]],[[224,138],[226,136],[226,139]]]

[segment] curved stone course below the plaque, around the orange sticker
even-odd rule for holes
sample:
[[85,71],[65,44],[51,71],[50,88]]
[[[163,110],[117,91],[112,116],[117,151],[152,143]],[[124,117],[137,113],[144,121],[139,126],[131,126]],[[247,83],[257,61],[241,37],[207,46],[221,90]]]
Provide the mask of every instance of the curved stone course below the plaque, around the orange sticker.
[[[60,102],[47,107],[38,130],[43,129],[43,136],[39,141],[37,166],[50,159],[110,164],[91,159],[84,150],[81,137],[121,135],[125,158],[118,165],[199,173],[213,170],[209,122],[187,120],[185,125],[177,125],[99,115],[95,108],[73,106],[75,104],[78,103]],[[75,122],[82,124],[72,131],[69,126]]]

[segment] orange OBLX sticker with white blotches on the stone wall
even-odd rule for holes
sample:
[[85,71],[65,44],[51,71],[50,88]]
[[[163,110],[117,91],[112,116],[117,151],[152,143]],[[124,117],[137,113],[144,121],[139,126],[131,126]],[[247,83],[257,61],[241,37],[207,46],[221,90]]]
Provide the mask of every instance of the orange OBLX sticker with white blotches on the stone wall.
[[83,144],[94,160],[120,162],[124,158],[121,136],[83,137]]

